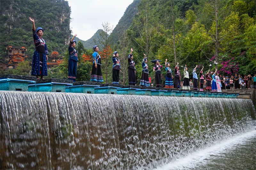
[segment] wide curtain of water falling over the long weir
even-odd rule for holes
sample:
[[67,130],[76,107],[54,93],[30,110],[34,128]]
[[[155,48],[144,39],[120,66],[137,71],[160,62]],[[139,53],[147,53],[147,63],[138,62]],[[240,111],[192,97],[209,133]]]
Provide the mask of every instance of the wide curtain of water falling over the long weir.
[[251,100],[0,92],[0,169],[153,169],[253,128]]

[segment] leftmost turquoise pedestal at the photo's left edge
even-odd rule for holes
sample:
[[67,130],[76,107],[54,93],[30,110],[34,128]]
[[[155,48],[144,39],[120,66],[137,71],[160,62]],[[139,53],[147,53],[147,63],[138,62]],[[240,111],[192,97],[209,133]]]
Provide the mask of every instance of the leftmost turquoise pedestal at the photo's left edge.
[[13,78],[3,78],[0,80],[0,90],[9,90],[9,91],[28,91],[28,83],[35,81],[32,80],[20,80]]

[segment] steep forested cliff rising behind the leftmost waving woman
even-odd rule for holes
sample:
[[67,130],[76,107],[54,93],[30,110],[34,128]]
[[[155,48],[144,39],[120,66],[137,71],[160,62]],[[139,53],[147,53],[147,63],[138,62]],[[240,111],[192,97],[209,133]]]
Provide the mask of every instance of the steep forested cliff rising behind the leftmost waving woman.
[[[64,0],[1,0],[1,46],[0,60],[7,56],[6,46],[28,48],[27,61],[32,61],[35,45],[32,35],[32,22],[44,29],[49,53],[56,50],[65,53],[70,37],[70,8]],[[23,41],[27,41],[27,45]]]

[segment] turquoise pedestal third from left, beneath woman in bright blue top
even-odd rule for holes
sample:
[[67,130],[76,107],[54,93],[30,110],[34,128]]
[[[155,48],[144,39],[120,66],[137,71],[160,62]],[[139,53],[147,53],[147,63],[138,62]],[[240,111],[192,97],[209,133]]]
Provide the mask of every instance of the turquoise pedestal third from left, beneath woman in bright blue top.
[[68,93],[95,93],[94,87],[99,87],[100,85],[68,85],[66,86],[66,92]]

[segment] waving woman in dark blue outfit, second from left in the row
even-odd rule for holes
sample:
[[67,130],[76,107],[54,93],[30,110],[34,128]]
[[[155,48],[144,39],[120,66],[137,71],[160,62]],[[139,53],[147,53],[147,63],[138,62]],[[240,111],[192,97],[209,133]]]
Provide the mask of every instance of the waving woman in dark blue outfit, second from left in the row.
[[78,64],[78,58],[77,58],[77,50],[76,48],[76,41],[74,38],[76,37],[77,34],[75,34],[72,39],[69,42],[68,45],[68,53],[69,53],[69,58],[68,58],[68,80],[73,80],[73,82],[76,81],[76,69],[77,69],[77,64]]

